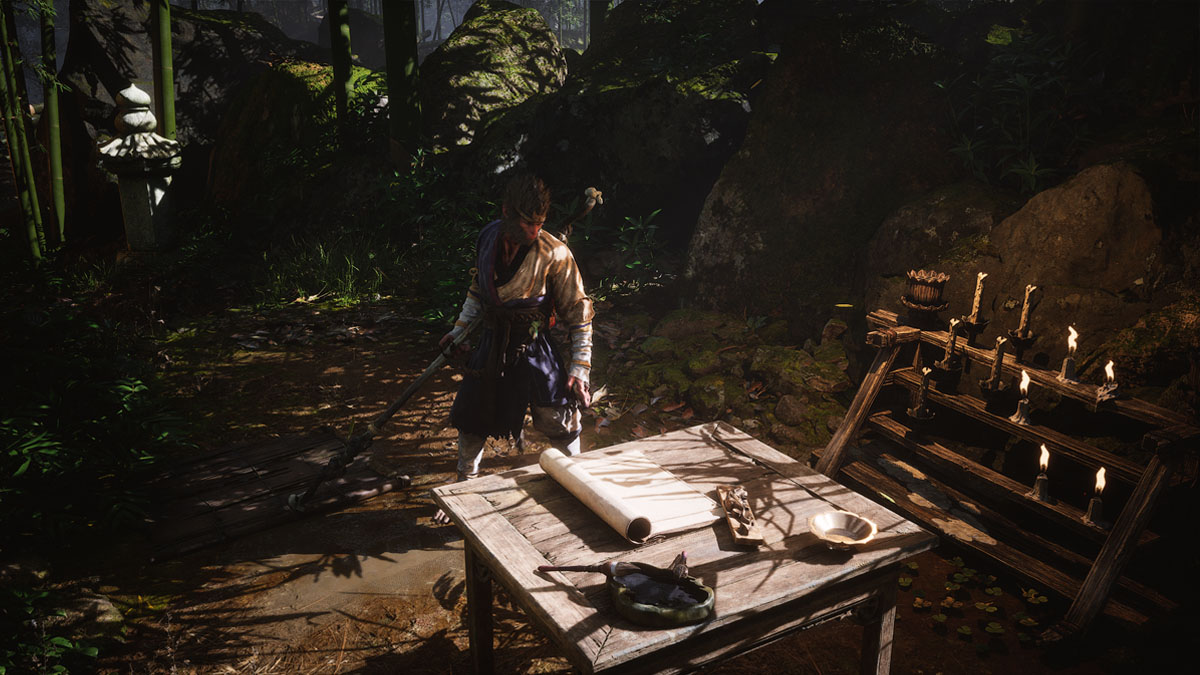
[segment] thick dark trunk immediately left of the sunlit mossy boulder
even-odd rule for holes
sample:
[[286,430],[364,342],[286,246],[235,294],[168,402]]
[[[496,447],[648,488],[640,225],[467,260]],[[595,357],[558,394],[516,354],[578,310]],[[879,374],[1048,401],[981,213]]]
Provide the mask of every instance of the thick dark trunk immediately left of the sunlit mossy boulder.
[[391,159],[407,162],[416,151],[421,133],[421,100],[418,96],[416,10],[412,0],[383,6],[383,47],[388,65],[388,136]]

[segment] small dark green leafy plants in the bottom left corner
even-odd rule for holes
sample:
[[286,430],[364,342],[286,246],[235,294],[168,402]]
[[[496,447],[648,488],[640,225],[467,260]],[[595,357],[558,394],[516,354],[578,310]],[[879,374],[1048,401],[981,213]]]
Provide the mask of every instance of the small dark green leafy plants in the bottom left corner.
[[49,591],[0,587],[0,675],[70,673],[95,667],[97,649],[53,627],[66,613]]

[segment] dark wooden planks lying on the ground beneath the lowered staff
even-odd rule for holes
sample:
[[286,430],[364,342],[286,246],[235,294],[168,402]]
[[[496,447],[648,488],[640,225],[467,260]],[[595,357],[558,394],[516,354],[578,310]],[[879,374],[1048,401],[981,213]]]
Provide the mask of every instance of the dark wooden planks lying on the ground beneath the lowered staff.
[[379,476],[360,455],[341,478],[317,490],[304,514],[289,509],[288,495],[307,489],[343,444],[331,435],[292,436],[232,446],[170,467],[150,484],[157,507],[148,519],[154,558],[192,552],[403,486],[402,478]]

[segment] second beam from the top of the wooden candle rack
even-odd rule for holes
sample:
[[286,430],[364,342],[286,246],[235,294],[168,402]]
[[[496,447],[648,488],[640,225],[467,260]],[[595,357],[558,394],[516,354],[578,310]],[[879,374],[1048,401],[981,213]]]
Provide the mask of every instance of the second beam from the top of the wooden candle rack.
[[[910,369],[895,370],[892,372],[892,376],[896,384],[901,384],[906,389],[916,390],[920,387],[920,378]],[[988,412],[986,404],[974,396],[944,394],[934,388],[929,389],[926,396],[934,404],[978,419],[1018,438],[1024,438],[1031,443],[1045,443],[1050,446],[1051,450],[1062,453],[1064,456],[1078,461],[1087,468],[1096,470],[1103,466],[1108,470],[1109,476],[1124,480],[1130,485],[1141,479],[1141,466],[1133,461],[1104,452],[1090,443],[1076,441],[1049,426],[1010,422],[1007,417]]]

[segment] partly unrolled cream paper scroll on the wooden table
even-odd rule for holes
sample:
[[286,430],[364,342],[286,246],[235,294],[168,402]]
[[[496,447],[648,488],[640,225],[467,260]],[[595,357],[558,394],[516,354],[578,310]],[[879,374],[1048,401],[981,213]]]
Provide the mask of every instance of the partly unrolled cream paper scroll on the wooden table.
[[[588,453],[589,455],[592,453]],[[630,542],[720,519],[721,507],[637,450],[595,456],[541,453],[542,471]]]

